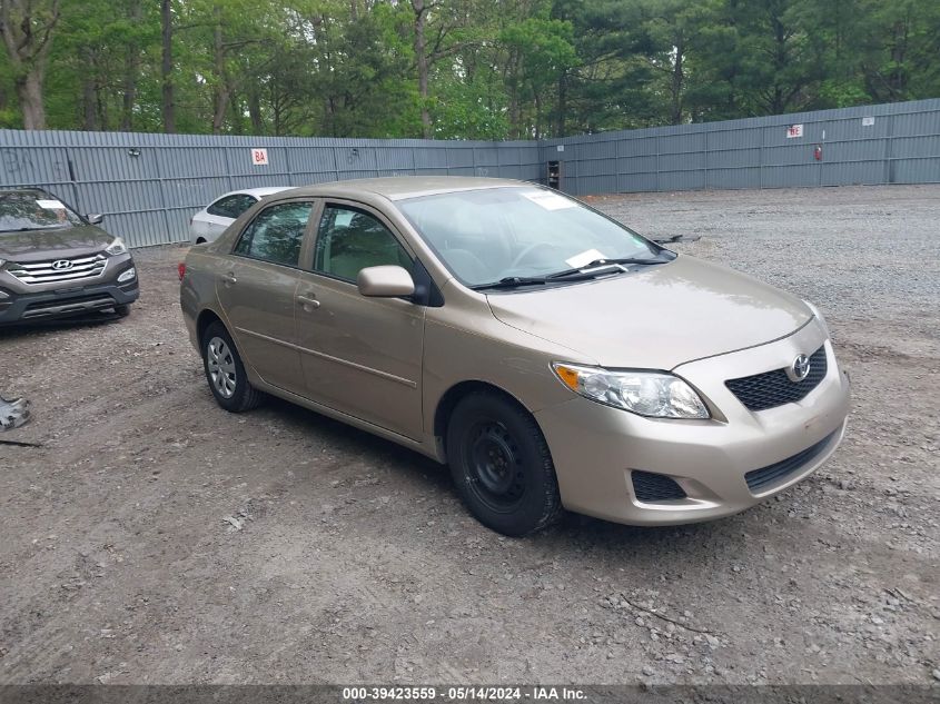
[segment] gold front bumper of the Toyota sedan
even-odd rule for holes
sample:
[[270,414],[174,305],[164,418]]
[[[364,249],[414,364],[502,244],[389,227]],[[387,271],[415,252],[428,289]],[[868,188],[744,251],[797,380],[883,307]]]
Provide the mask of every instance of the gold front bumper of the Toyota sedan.
[[[825,337],[811,323],[782,340],[676,367],[712,407],[709,420],[644,418],[580,396],[536,413],[562,503],[616,523],[676,525],[739,513],[799,483],[845,432],[849,380]],[[827,375],[800,401],[751,412],[724,386],[725,379],[783,367],[823,341]],[[749,487],[745,475],[759,469],[770,472],[759,486],[751,474]],[[640,500],[633,472],[665,475],[685,497]]]

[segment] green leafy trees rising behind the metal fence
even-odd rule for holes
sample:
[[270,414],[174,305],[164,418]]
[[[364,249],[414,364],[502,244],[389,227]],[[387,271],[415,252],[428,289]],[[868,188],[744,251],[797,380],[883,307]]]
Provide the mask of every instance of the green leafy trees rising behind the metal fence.
[[[186,132],[419,137],[429,120],[436,138],[498,140],[940,95],[940,3],[922,0],[171,9],[176,128]],[[44,67],[48,126],[162,129],[160,22],[155,0],[63,1]],[[17,80],[29,68],[0,51],[0,127],[23,125]]]

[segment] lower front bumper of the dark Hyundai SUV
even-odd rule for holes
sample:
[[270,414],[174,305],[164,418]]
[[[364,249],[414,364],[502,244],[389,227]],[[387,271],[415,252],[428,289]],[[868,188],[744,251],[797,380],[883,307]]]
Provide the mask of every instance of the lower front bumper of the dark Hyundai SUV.
[[72,288],[10,294],[0,299],[0,325],[33,323],[106,310],[131,304],[140,296],[138,278],[127,284],[95,284]]

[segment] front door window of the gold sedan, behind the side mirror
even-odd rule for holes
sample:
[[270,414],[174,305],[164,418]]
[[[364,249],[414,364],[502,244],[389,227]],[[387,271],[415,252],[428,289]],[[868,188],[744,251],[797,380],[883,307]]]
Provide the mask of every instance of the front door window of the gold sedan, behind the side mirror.
[[317,234],[314,270],[355,281],[367,267],[394,265],[412,272],[412,258],[392,231],[367,212],[327,206]]

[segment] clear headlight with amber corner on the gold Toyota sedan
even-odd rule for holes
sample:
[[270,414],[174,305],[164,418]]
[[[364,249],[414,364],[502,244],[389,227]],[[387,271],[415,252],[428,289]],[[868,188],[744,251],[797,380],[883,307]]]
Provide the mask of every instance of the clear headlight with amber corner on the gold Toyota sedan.
[[611,371],[553,363],[562,383],[585,398],[651,418],[709,418],[709,409],[691,386],[661,371]]

